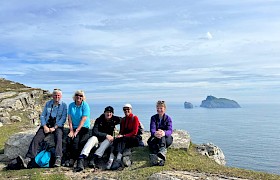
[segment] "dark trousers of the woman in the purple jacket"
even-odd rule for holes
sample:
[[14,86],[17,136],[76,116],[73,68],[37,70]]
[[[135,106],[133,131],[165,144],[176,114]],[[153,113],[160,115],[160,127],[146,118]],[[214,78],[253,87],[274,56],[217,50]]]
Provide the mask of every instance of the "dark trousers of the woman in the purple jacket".
[[164,137],[159,139],[155,136],[151,136],[148,139],[147,143],[148,143],[150,151],[153,154],[157,154],[161,147],[168,148],[173,143],[173,137],[172,136],[164,136]]

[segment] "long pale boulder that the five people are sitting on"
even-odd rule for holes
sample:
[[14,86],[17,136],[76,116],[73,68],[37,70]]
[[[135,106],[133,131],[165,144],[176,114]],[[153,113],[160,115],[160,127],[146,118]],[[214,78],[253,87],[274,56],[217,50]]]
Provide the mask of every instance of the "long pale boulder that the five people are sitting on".
[[[26,132],[20,132],[12,135],[7,142],[5,143],[4,155],[7,156],[10,160],[16,158],[18,155],[25,156],[27,153],[28,147],[35,133],[37,132],[38,127],[29,130]],[[64,128],[64,134],[69,132],[68,128]],[[191,138],[187,131],[183,130],[174,130],[173,131],[173,144],[171,148],[182,148],[188,149],[190,146]],[[147,146],[147,140],[150,137],[150,132],[145,131],[143,133],[143,142],[145,146]],[[50,143],[50,145],[54,145],[54,136],[50,135],[45,138],[46,141]],[[63,139],[63,147],[65,147],[66,136]]]

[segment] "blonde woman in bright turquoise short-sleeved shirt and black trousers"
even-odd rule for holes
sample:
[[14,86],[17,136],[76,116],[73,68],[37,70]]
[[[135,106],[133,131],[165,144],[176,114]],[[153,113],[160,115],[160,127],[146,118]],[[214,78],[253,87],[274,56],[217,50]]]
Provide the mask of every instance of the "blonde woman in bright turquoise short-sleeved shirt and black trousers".
[[68,123],[69,134],[66,143],[66,167],[73,167],[84,145],[89,138],[90,108],[85,101],[84,91],[77,90],[73,96],[74,102],[69,104]]

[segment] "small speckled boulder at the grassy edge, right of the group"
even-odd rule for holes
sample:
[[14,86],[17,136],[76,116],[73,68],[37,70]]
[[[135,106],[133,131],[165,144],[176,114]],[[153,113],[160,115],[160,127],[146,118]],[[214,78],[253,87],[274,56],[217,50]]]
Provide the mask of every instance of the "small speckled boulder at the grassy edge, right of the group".
[[226,164],[225,155],[223,151],[213,143],[197,145],[196,150],[200,154],[205,155],[210,159],[213,159],[216,163],[220,165]]

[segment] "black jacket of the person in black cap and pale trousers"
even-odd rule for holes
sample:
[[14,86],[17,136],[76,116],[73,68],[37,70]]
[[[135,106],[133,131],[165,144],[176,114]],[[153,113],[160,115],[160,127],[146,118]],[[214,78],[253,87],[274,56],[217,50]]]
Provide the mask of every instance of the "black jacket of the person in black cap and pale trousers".
[[98,138],[98,141],[104,141],[106,139],[107,134],[113,136],[115,126],[120,124],[121,117],[112,116],[110,120],[105,119],[105,115],[102,114],[99,118],[95,120],[92,135]]

